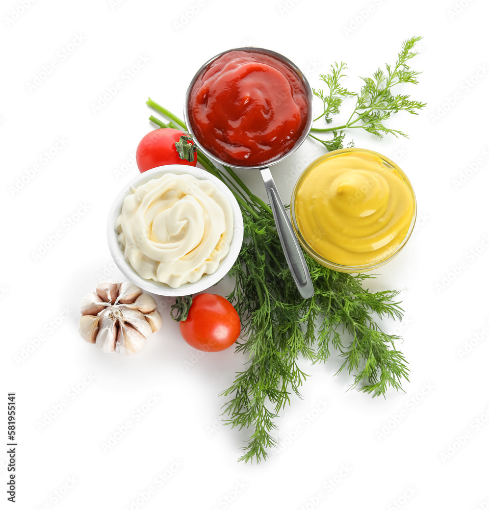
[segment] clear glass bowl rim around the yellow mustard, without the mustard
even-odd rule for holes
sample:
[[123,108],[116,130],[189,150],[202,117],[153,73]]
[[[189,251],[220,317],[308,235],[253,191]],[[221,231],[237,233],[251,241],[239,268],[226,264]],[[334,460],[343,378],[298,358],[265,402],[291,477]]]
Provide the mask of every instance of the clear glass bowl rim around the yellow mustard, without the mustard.
[[[322,162],[325,160],[328,160],[333,157],[341,156],[341,155],[349,155],[351,156],[354,152],[364,152],[368,155],[375,156],[379,159],[380,164],[382,165],[383,169],[387,169],[393,173],[395,173],[402,182],[405,184],[405,186],[408,188],[411,197],[413,198],[413,213],[411,217],[411,221],[408,227],[408,230],[406,232],[406,235],[402,239],[402,241],[393,248],[392,251],[390,251],[386,256],[383,256],[382,258],[372,260],[368,264],[364,265],[347,265],[347,264],[341,264],[338,262],[333,262],[331,260],[328,260],[327,258],[323,257],[320,253],[318,253],[311,245],[310,242],[307,241],[306,236],[302,235],[300,231],[300,226],[297,221],[296,216],[296,196],[297,192],[300,189],[302,183],[304,182],[305,178]],[[391,161],[389,158],[379,154],[378,152],[375,152],[373,150],[369,149],[362,149],[362,148],[343,148],[338,150],[333,150],[331,152],[328,152],[324,156],[320,156],[316,160],[314,160],[310,165],[305,168],[305,170],[301,173],[299,176],[299,179],[297,180],[297,183],[294,187],[294,190],[292,192],[292,198],[291,198],[291,218],[292,218],[292,227],[294,229],[294,232],[299,240],[299,243],[304,248],[304,250],[317,262],[322,264],[323,266],[333,269],[335,271],[340,271],[344,273],[362,273],[366,271],[371,271],[374,269],[377,269],[387,262],[391,261],[396,255],[401,251],[401,249],[405,246],[407,240],[409,239],[411,233],[413,232],[413,228],[416,222],[416,213],[417,213],[417,206],[416,206],[416,196],[413,190],[413,186],[411,186],[411,183],[409,182],[409,179],[407,178],[406,174],[399,168],[399,166]]]

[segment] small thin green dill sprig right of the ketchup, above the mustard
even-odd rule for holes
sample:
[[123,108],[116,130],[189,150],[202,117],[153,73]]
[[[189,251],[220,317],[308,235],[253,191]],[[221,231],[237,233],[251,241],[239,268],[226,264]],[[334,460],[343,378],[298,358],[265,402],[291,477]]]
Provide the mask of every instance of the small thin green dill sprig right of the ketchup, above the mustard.
[[[397,56],[394,66],[385,65],[385,71],[378,68],[372,78],[362,78],[364,85],[360,92],[349,92],[340,85],[346,75],[343,71],[347,68],[344,62],[334,63],[330,66],[329,74],[321,74],[320,79],[327,85],[324,90],[313,90],[324,105],[324,111],[316,120],[324,117],[327,123],[332,122],[332,115],[340,113],[343,98],[355,96],[355,108],[345,124],[334,127],[313,127],[310,136],[321,142],[328,150],[341,148],[345,138],[345,130],[362,128],[380,138],[386,133],[395,136],[407,137],[405,133],[392,129],[385,124],[393,113],[404,110],[408,113],[418,114],[417,110],[424,108],[426,103],[415,101],[405,94],[393,94],[392,88],[402,83],[418,83],[419,71],[413,71],[409,67],[409,61],[418,55],[413,49],[421,37],[411,37],[402,43],[401,51]],[[332,139],[323,140],[312,133],[331,132]]]

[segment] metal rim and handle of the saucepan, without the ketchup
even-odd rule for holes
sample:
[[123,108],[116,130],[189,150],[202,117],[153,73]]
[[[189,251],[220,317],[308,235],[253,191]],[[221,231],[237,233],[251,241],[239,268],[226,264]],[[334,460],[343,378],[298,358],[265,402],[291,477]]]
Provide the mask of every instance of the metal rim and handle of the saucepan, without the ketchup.
[[[304,130],[296,141],[296,143],[292,146],[292,148],[289,149],[286,154],[279,157],[278,159],[271,161],[270,163],[262,166],[238,166],[238,165],[230,165],[229,163],[226,163],[225,161],[222,161],[218,157],[216,157],[212,152],[207,150],[205,147],[202,146],[201,143],[199,143],[199,139],[195,135],[195,133],[192,131],[192,126],[190,124],[190,118],[189,118],[189,112],[188,112],[188,101],[189,101],[189,95],[192,90],[192,87],[196,81],[196,79],[199,77],[199,75],[203,72],[205,68],[209,66],[214,60],[219,58],[221,55],[224,55],[229,52],[234,51],[248,51],[248,52],[261,52],[268,55],[271,55],[278,60],[286,63],[289,67],[291,67],[300,80],[302,81],[302,84],[305,88],[306,95],[307,95],[307,104],[308,104],[308,118],[307,123],[304,127]],[[187,89],[187,94],[185,96],[185,107],[184,107],[184,116],[185,116],[185,122],[187,124],[187,129],[190,134],[193,135],[194,141],[199,147],[199,149],[208,156],[209,158],[213,159],[217,163],[220,163],[224,166],[229,166],[233,169],[259,169],[260,173],[262,175],[263,181],[265,183],[265,189],[267,190],[268,199],[270,200],[270,207],[273,212],[273,217],[275,219],[275,225],[277,227],[278,236],[280,238],[280,243],[282,245],[282,248],[284,249],[285,258],[287,260],[287,264],[289,265],[289,268],[292,272],[292,277],[294,278],[294,282],[297,286],[297,289],[299,290],[300,295],[304,298],[311,298],[314,295],[314,287],[313,282],[311,280],[311,275],[309,274],[309,270],[307,268],[307,264],[304,259],[304,255],[302,253],[302,249],[299,245],[299,242],[294,234],[294,231],[292,230],[292,225],[289,219],[289,216],[284,208],[284,204],[282,203],[282,200],[280,199],[280,196],[278,194],[277,188],[275,186],[275,183],[272,179],[272,174],[270,172],[269,166],[274,165],[275,163],[278,163],[280,161],[283,161],[285,158],[290,156],[294,150],[296,150],[299,145],[307,138],[308,133],[311,130],[311,126],[313,123],[313,108],[312,108],[312,101],[313,101],[313,92],[311,90],[311,86],[307,82],[306,78],[302,74],[302,72],[298,69],[298,67],[291,62],[286,57],[272,52],[268,49],[263,48],[254,48],[254,47],[244,47],[244,48],[233,48],[226,50],[225,52],[220,53],[219,55],[216,55],[212,59],[210,59],[208,62],[202,65],[200,69],[195,73],[195,76],[193,77],[192,81],[190,82],[190,85]]]

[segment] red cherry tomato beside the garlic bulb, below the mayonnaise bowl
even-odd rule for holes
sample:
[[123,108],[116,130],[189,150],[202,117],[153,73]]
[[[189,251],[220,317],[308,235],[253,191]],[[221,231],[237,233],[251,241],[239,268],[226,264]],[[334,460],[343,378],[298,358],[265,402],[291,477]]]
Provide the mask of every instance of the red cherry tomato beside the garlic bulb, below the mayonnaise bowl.
[[217,352],[233,345],[240,335],[238,312],[224,297],[199,294],[192,299],[187,320],[180,321],[184,340],[207,352]]

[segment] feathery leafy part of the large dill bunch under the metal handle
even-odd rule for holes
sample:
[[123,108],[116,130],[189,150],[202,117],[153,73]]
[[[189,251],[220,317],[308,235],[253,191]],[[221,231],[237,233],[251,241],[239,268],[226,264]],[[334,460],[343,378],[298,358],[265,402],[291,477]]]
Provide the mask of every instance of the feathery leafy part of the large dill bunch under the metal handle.
[[[389,387],[402,390],[408,380],[407,362],[395,349],[395,335],[383,333],[374,317],[401,318],[396,291],[370,292],[372,275],[332,271],[305,255],[315,295],[303,300],[290,277],[276,232],[264,228],[273,217],[262,211],[260,221],[244,215],[245,242],[230,272],[235,287],[228,296],[242,318],[243,335],[237,350],[249,354],[246,370],[238,372],[223,395],[224,422],[250,430],[240,458],[260,462],[276,446],[274,420],[300,396],[307,375],[298,360],[344,358],[338,372],[353,374],[351,387],[374,396]],[[337,372],[337,373],[338,373]]]

